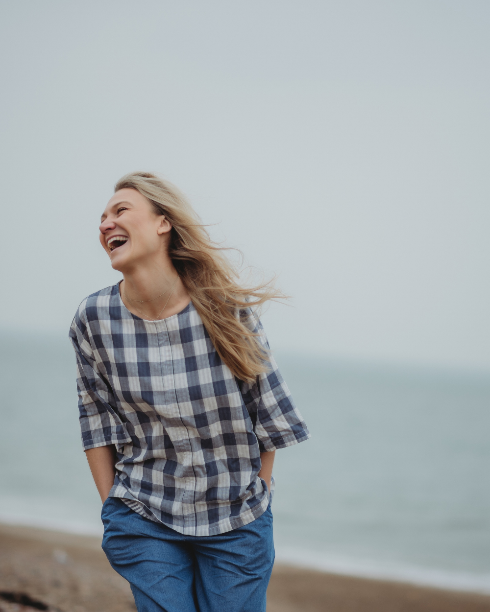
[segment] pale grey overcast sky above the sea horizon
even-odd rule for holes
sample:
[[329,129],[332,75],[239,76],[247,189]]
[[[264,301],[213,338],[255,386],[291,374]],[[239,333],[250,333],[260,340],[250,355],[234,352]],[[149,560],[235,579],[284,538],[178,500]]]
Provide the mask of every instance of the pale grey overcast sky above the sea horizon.
[[274,349],[490,370],[490,4],[1,3],[0,328],[65,334],[121,275],[132,170],[292,296]]

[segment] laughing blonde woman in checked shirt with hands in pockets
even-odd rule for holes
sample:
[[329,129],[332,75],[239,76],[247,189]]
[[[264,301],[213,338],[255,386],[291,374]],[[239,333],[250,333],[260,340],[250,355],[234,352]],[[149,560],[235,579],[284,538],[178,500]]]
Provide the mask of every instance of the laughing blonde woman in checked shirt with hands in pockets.
[[183,195],[124,176],[100,223],[123,280],[70,329],[102,547],[139,612],[260,612],[274,452],[309,433],[246,289]]

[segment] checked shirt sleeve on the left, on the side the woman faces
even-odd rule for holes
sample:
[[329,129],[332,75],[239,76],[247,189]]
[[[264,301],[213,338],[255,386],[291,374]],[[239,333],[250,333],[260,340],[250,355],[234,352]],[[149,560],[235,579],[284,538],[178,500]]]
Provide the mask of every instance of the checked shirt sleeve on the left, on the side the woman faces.
[[78,409],[83,450],[110,444],[123,446],[131,442],[131,438],[113,408],[113,391],[97,368],[86,333],[85,325],[75,316],[69,337],[77,356]]

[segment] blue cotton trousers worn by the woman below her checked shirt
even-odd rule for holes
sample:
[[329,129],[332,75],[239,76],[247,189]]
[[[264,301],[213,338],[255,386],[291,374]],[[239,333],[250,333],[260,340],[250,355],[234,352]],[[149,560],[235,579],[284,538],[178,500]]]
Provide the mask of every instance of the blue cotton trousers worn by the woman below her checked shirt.
[[274,564],[270,506],[218,535],[182,535],[121,499],[102,507],[102,548],[131,585],[138,612],[265,612]]

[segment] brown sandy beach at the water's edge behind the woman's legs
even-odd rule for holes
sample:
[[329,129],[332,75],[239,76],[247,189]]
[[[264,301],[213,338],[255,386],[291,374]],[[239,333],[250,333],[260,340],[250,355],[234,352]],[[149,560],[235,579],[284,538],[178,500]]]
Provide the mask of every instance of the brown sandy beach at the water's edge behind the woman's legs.
[[[100,539],[0,525],[0,612],[134,612]],[[490,612],[485,595],[276,564],[268,612]]]

